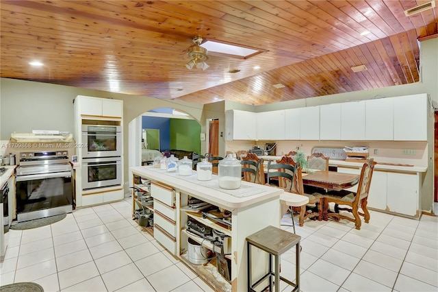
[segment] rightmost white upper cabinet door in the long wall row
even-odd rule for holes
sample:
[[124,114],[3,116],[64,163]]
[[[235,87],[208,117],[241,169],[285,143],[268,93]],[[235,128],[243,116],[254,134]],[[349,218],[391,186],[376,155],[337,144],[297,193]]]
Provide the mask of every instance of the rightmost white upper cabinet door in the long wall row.
[[427,141],[426,94],[394,98],[394,140]]

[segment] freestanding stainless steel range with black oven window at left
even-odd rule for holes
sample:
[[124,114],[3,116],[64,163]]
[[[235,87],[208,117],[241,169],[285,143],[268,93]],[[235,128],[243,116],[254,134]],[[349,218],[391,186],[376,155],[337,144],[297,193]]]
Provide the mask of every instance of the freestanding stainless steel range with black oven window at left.
[[72,212],[72,177],[66,151],[21,153],[16,168],[17,221]]

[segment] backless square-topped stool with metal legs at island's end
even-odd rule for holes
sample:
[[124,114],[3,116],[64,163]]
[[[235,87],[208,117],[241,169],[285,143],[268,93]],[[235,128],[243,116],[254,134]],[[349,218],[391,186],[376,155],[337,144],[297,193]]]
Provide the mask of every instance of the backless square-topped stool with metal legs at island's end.
[[[255,232],[246,237],[246,250],[248,256],[248,292],[255,291],[254,288],[266,278],[269,278],[269,291],[273,291],[272,283],[275,285],[275,291],[280,291],[280,280],[294,287],[294,290],[292,291],[300,291],[300,240],[301,236],[281,230],[274,226],[268,226],[259,232]],[[251,268],[251,245],[269,254],[269,272],[254,284]],[[280,276],[280,256],[294,245],[296,247],[295,283]],[[272,256],[274,256],[274,271],[272,271]]]

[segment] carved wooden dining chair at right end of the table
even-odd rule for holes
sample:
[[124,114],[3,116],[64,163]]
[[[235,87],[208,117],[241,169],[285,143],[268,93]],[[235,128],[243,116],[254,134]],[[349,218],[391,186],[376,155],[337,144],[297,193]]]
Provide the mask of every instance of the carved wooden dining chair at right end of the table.
[[[337,220],[347,219],[349,221],[352,221],[355,223],[355,228],[357,230],[361,229],[361,216],[363,217],[365,223],[370,222],[370,212],[368,212],[367,209],[367,198],[370,191],[374,165],[376,165],[376,162],[374,162],[373,158],[368,158],[368,160],[363,163],[356,193],[346,191],[330,191],[329,193],[326,193],[326,195],[324,195],[324,199],[326,199],[327,205],[331,202],[335,203],[334,212],[327,213],[329,217],[334,217]],[[339,206],[347,207],[341,208]],[[359,212],[359,208],[361,208],[363,212]],[[342,214],[342,211],[352,213],[352,216],[354,218]]]

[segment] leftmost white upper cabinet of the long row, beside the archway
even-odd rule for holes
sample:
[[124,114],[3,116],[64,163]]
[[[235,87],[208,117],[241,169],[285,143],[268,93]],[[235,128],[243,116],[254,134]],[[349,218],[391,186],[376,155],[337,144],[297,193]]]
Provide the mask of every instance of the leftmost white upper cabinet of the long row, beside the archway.
[[227,140],[257,140],[257,112],[227,110],[225,112]]

